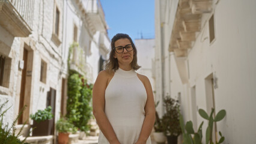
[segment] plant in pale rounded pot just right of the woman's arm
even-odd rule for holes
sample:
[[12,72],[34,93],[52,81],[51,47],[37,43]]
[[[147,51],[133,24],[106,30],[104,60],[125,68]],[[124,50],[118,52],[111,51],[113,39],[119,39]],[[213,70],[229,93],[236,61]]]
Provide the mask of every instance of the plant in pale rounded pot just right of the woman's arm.
[[[157,107],[159,104],[159,101],[155,104],[155,107]],[[156,112],[156,121],[154,121],[154,141],[157,143],[165,143],[166,137],[165,134],[163,133],[165,131],[164,125],[162,123],[162,119],[159,118],[158,113]]]

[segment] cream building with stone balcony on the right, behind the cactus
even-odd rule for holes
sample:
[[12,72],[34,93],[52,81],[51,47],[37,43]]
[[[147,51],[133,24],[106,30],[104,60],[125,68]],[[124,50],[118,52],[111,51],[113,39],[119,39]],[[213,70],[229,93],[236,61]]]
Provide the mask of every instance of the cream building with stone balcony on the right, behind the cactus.
[[180,100],[195,128],[198,109],[225,109],[216,125],[224,143],[256,143],[256,1],[155,2],[157,98]]

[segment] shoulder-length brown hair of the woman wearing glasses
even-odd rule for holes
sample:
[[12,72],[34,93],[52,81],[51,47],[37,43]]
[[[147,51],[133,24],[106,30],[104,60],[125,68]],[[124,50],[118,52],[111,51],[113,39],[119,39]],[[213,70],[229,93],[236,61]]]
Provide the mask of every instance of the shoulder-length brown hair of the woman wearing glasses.
[[105,70],[108,71],[108,73],[115,72],[119,67],[117,59],[114,58],[114,54],[115,54],[115,41],[117,41],[121,38],[127,38],[130,41],[130,43],[132,44],[132,47],[134,50],[133,60],[131,62],[132,69],[138,70],[141,67],[137,64],[137,49],[135,47],[135,44],[132,41],[132,38],[130,38],[129,35],[127,35],[127,34],[116,34],[111,40],[111,52],[109,54],[109,59],[105,65]]

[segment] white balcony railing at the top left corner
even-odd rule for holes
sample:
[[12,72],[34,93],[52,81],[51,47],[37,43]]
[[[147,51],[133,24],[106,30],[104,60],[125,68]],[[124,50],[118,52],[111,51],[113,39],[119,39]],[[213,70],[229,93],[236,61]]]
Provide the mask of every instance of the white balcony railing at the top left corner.
[[[7,1],[7,0],[6,0]],[[17,12],[32,29],[34,17],[34,0],[10,0]]]

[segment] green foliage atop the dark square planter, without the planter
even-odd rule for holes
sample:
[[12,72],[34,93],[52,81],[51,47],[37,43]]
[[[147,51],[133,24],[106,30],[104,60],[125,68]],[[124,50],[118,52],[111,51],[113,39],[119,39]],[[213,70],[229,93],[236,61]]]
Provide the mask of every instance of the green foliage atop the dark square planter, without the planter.
[[48,106],[44,110],[38,110],[34,115],[30,115],[30,118],[36,122],[45,121],[47,119],[52,119],[52,107]]

